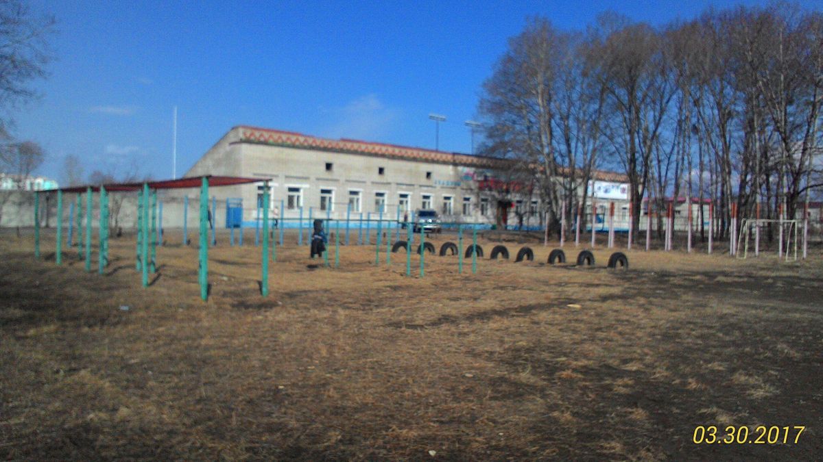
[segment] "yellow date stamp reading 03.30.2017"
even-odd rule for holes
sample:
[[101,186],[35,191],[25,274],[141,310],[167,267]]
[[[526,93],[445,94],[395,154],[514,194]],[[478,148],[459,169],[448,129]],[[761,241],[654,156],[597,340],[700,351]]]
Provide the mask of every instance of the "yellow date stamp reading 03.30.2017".
[[695,445],[701,444],[726,444],[726,445],[779,445],[779,444],[797,444],[800,441],[800,435],[806,430],[806,427],[795,425],[794,427],[778,427],[759,425],[755,427],[754,432],[749,431],[749,427],[745,425],[736,426],[729,425],[723,428],[714,425],[698,425],[695,427],[695,432],[691,436],[691,441]]

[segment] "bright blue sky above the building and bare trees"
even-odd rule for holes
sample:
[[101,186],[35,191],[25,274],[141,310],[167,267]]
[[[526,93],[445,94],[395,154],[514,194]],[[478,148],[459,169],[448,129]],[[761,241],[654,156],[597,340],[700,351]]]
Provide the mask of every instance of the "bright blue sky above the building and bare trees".
[[170,178],[230,127],[469,152],[463,121],[529,16],[567,30],[619,12],[660,25],[709,5],[760,1],[63,2],[35,0],[58,21],[42,98],[13,113],[13,135],[39,142],[38,173],[63,181],[63,158],[93,169]]

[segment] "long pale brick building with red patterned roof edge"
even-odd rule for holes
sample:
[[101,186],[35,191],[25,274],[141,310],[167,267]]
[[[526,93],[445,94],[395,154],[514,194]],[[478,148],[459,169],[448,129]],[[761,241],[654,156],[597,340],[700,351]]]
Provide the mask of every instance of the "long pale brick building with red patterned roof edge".
[[[332,219],[371,215],[402,219],[415,210],[437,210],[444,222],[494,223],[500,204],[483,193],[504,161],[415,147],[349,139],[331,140],[258,127],[233,127],[193,165],[187,177],[232,175],[272,178],[272,213],[281,218]],[[604,182],[625,181],[597,172]],[[263,186],[221,187],[217,201],[242,201],[243,221],[259,217]],[[539,224],[537,198],[524,197],[506,208],[508,222],[524,216]],[[271,214],[270,214],[271,215]],[[219,223],[218,217],[218,223]]]

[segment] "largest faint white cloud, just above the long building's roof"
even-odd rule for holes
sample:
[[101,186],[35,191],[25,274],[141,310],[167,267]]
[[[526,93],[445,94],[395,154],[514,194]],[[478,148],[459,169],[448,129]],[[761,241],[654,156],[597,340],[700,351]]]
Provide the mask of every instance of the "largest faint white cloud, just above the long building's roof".
[[374,140],[384,137],[398,119],[398,109],[387,108],[377,95],[365,95],[342,108],[326,111],[332,114],[328,136]]

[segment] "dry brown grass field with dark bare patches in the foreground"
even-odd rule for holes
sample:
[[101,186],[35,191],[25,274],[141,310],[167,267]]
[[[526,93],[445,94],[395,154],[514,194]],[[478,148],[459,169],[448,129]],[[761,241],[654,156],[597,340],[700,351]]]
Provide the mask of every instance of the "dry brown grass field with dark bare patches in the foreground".
[[[477,275],[426,256],[423,279],[416,255],[407,277],[405,254],[375,267],[374,246],[341,247],[331,269],[289,244],[261,298],[253,235],[229,247],[224,234],[204,303],[195,247],[158,247],[143,289],[133,236],[112,240],[97,275],[73,248],[55,266],[53,234],[38,261],[30,236],[2,233],[0,458],[823,454],[819,249],[798,263],[633,251],[628,270],[607,270],[599,246],[595,267],[575,267],[546,265],[542,243],[525,263],[515,243],[509,261],[481,244]],[[806,431],[797,444],[695,445],[697,425]]]

